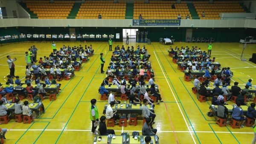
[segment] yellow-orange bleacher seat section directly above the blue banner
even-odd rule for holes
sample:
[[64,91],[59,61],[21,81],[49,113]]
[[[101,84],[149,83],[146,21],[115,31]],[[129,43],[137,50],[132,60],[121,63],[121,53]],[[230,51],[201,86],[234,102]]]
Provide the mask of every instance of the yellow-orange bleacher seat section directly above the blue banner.
[[186,17],[189,14],[188,6],[185,2],[175,3],[175,9],[172,9],[172,1],[150,0],[150,3],[144,1],[134,1],[134,18],[142,14],[143,19],[177,19],[177,15]]

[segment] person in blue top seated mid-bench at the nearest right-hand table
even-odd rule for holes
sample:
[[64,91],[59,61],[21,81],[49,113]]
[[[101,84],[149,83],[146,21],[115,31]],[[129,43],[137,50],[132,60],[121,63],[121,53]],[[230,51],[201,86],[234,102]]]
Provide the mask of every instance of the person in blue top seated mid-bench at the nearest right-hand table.
[[244,116],[243,109],[241,109],[241,102],[238,101],[233,107],[232,118],[241,122],[241,127],[244,127],[246,117]]

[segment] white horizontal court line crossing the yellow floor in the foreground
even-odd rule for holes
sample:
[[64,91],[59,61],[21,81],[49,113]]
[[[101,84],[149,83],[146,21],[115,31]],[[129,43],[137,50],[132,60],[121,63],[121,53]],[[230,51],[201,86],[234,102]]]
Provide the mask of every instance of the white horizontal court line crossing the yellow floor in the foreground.
[[[59,130],[52,130],[52,129],[11,129],[11,130],[8,130],[8,131],[62,131],[61,129]],[[67,130],[67,129],[64,129],[64,131],[70,131],[70,132],[90,132],[91,130]],[[140,132],[141,130],[125,130],[125,132],[134,132],[134,131],[138,131]],[[115,132],[122,132],[122,130],[115,130]],[[191,131],[158,131],[157,132],[191,132]],[[198,132],[198,133],[213,133],[213,131],[195,131],[195,132]],[[215,133],[230,133],[230,132],[218,132],[218,131],[214,131]],[[254,132],[232,132],[232,133],[240,133],[240,134],[253,134]]]

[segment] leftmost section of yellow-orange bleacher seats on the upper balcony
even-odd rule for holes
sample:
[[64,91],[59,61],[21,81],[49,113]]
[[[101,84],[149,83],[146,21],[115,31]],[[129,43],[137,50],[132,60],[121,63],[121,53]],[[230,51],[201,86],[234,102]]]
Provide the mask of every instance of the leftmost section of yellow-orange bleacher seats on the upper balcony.
[[27,8],[38,18],[42,19],[66,19],[75,3],[75,1],[54,1],[49,3],[49,0],[24,0]]

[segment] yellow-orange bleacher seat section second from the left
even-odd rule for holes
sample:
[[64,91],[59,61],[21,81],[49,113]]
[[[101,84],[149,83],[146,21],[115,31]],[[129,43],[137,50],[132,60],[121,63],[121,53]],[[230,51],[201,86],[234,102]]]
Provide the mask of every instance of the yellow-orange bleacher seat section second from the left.
[[119,1],[113,3],[113,0],[89,0],[81,4],[76,19],[125,19],[126,2]]

